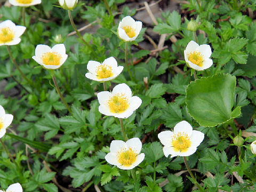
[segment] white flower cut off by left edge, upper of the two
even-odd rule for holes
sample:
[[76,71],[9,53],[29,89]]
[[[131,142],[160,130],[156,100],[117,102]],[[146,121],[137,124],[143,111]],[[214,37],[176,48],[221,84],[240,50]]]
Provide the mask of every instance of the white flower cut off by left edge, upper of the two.
[[20,43],[20,36],[24,33],[26,27],[16,26],[11,20],[0,23],[0,46],[17,45]]

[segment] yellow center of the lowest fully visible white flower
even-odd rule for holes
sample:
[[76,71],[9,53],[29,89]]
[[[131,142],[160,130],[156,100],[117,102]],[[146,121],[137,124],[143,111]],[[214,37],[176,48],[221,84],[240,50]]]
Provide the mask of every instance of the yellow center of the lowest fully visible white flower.
[[122,148],[117,153],[117,161],[123,166],[131,166],[136,161],[137,155],[131,148]]

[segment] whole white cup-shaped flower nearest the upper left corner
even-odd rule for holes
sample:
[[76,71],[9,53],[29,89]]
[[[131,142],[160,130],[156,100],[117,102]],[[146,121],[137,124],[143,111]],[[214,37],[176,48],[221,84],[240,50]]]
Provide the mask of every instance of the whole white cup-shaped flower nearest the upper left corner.
[[52,47],[47,45],[37,45],[35,56],[36,62],[46,69],[58,69],[68,58],[64,44],[56,44]]

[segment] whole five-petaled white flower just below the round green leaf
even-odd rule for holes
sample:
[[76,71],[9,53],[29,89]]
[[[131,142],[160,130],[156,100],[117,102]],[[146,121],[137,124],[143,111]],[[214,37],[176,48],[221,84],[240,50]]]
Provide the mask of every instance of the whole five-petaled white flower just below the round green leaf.
[[174,126],[172,131],[163,131],[158,134],[160,142],[164,145],[165,157],[189,156],[196,152],[197,146],[204,140],[204,133],[195,131],[191,125],[182,121]]

